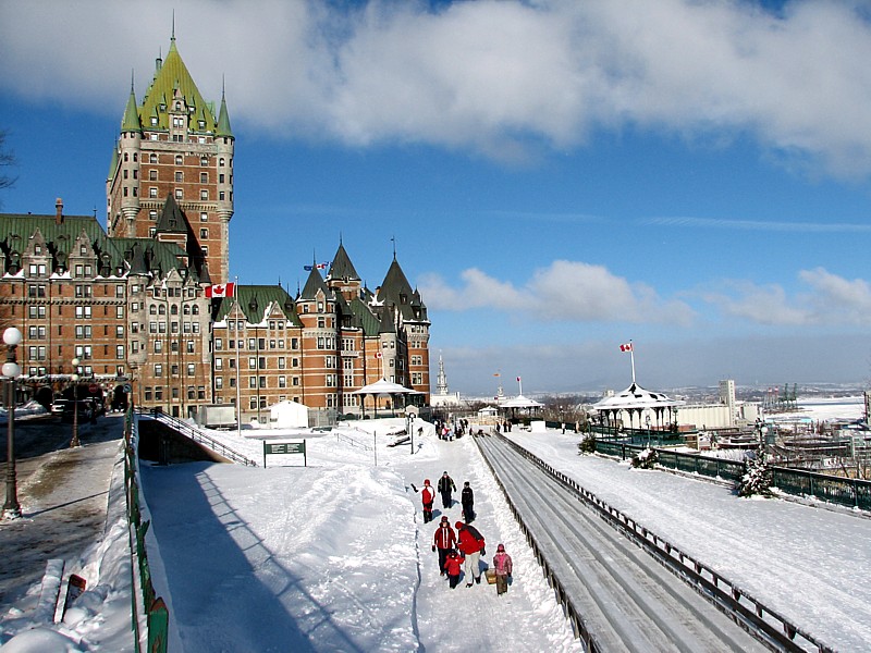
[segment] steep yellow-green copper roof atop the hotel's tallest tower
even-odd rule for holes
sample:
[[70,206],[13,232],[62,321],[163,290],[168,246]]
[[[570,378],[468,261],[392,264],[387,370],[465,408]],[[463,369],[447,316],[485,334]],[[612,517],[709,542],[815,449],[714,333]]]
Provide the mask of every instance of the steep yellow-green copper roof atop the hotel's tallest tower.
[[[170,51],[163,60],[160,69],[155,73],[155,78],[145,95],[142,107],[139,107],[139,123],[146,128],[158,130],[170,128],[169,110],[175,98],[175,93],[184,98],[189,110],[188,128],[193,132],[218,132],[218,123],[214,118],[214,107],[206,102],[194,83],[194,78],[187,71],[187,66],[182,61],[179,50],[175,48],[175,38],[170,44]],[[151,119],[157,119],[154,124]],[[204,126],[199,126],[203,121]],[[226,128],[230,127],[230,120],[226,119]]]

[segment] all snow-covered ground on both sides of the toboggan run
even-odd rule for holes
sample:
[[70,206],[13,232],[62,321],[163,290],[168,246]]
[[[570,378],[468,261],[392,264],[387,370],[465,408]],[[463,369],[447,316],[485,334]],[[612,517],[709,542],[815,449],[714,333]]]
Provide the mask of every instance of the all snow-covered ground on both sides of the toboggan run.
[[[440,441],[424,424],[412,455],[407,444],[387,446],[393,440],[388,432],[401,421],[356,423],[365,430],[245,430],[252,438],[242,440],[235,432],[210,433],[258,464],[261,438],[305,436],[308,467],[299,455],[271,455],[266,469],[143,468],[154,519],[149,558],[158,594],[170,607],[170,651],[579,651],[475,443]],[[515,431],[512,438],[825,643],[868,650],[867,516],[739,500],[702,480],[581,457],[577,438],[556,431]],[[459,506],[443,510],[437,498],[436,521],[424,525],[412,484],[434,482],[444,470],[476,492],[475,525],[487,538],[487,562],[500,542],[514,557],[505,596],[486,582],[450,590],[439,576],[432,533],[442,513],[459,519]],[[90,618],[54,628],[65,648],[15,638],[3,653],[132,650],[119,625],[128,617],[128,603],[118,600],[130,591],[120,579],[128,568],[112,562],[123,557],[116,549],[126,542],[112,538],[120,518],[116,510],[110,517],[115,521],[107,538],[82,559],[85,574],[99,579],[89,587],[102,588],[79,599]],[[27,627],[26,615],[15,617],[0,615],[0,642]]]

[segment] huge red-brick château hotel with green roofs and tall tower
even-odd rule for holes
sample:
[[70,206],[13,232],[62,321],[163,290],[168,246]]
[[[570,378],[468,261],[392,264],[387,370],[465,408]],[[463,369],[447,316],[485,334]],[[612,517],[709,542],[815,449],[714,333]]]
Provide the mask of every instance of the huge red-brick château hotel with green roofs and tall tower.
[[373,292],[341,243],[296,297],[224,285],[234,151],[225,98],[217,110],[203,98],[173,36],[142,101],[131,87],[107,231],[60,199],[54,214],[0,214],[0,318],[24,335],[22,385],[51,395],[75,372],[180,417],[238,404],[244,421],[283,401],[356,414],[352,391],[381,378],[427,404],[430,322],[395,251]]

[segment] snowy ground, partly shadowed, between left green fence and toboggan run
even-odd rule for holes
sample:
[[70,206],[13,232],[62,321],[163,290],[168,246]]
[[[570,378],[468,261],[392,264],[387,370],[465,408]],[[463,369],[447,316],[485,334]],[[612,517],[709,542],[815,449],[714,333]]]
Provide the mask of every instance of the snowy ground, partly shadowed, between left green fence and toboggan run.
[[[307,442],[308,468],[143,468],[171,650],[581,650],[470,439],[416,438],[414,456],[381,444],[378,467],[334,435]],[[505,596],[439,576],[410,483],[444,469],[476,491],[488,560],[499,541],[515,558]]]

